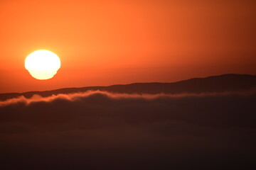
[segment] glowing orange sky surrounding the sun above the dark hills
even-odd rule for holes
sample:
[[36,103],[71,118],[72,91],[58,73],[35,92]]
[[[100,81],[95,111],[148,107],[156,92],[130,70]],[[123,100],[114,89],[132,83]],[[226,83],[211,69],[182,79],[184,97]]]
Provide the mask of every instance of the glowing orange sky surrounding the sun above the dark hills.
[[[0,1],[0,93],[256,74],[256,1]],[[33,79],[27,55],[62,66]]]

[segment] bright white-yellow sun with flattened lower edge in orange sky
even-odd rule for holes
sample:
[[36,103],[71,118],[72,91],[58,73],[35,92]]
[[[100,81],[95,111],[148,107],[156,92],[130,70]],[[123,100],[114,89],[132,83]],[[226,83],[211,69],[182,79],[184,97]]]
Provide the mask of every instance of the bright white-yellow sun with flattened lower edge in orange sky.
[[26,57],[25,68],[35,79],[51,79],[60,69],[60,58],[48,50],[37,50]]

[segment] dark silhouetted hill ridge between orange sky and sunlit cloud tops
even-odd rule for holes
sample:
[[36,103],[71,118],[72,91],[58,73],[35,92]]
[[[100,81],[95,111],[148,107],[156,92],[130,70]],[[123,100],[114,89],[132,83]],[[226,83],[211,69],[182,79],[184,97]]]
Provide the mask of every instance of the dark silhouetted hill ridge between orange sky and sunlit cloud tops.
[[82,88],[65,88],[53,91],[30,91],[26,93],[0,94],[0,100],[18,96],[31,97],[33,94],[50,96],[53,94],[70,94],[88,90],[110,91],[127,94],[180,94],[180,93],[203,93],[221,91],[240,91],[256,89],[256,75],[247,74],[223,74],[206,78],[194,78],[174,83],[134,83],[112,86],[88,86]]

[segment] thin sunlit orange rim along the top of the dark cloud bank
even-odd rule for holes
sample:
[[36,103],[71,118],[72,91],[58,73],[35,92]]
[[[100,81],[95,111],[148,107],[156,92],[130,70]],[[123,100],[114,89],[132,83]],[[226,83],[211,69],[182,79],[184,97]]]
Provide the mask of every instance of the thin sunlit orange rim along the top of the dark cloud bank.
[[112,99],[122,99],[122,98],[142,98],[145,100],[153,100],[156,98],[183,98],[183,97],[203,97],[203,96],[250,96],[256,94],[256,90],[250,91],[228,91],[221,93],[201,93],[201,94],[118,94],[118,93],[110,93],[108,91],[85,91],[80,93],[72,93],[72,94],[57,94],[48,97],[43,97],[38,94],[33,95],[31,98],[26,98],[25,96],[19,96],[17,98],[10,98],[5,101],[0,101],[1,106],[13,105],[16,103],[24,103],[29,105],[31,103],[36,102],[51,102],[55,100],[67,100],[67,101],[77,101],[81,98],[87,98],[93,95],[102,95],[107,96]]

